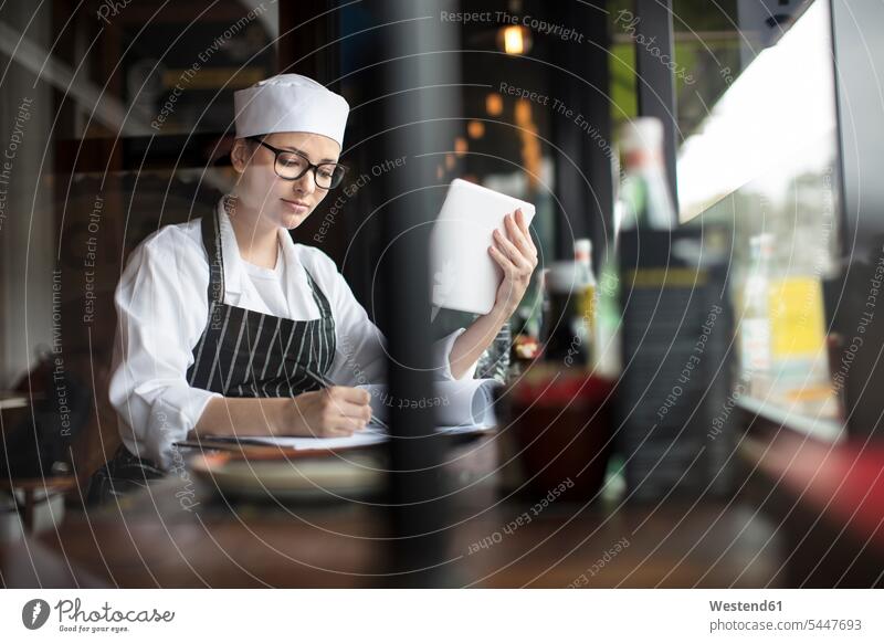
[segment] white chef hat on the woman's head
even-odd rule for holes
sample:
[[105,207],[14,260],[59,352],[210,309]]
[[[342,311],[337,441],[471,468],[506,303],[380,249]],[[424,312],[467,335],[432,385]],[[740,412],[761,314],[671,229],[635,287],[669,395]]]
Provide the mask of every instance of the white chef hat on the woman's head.
[[307,131],[344,145],[350,106],[344,96],[301,74],[278,74],[233,94],[236,138]]

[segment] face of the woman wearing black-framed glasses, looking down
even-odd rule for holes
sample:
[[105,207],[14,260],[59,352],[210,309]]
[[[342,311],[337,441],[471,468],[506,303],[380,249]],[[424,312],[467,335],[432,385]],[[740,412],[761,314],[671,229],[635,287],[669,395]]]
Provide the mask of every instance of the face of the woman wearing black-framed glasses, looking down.
[[[264,143],[277,149],[299,151],[316,165],[337,162],[340,146],[318,134],[277,131],[263,137]],[[275,155],[255,141],[238,138],[231,159],[240,172],[236,196],[249,211],[260,212],[265,223],[293,230],[309,217],[325,198],[327,190],[316,187],[313,170],[292,181],[274,171]]]

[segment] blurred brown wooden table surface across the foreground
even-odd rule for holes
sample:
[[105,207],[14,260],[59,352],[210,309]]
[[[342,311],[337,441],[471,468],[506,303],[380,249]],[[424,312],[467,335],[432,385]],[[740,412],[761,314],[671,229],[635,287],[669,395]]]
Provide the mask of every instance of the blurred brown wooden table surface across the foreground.
[[[438,584],[448,587],[776,587],[778,534],[756,510],[751,485],[727,500],[660,506],[502,498],[491,438],[459,447]],[[102,512],[75,514],[39,550],[74,579],[114,587],[383,587],[390,542],[382,509],[349,504],[228,504],[183,510],[180,481]],[[529,521],[518,524],[525,512]],[[481,547],[480,542],[485,542]],[[0,550],[1,551],[1,550]],[[13,587],[0,558],[4,583]],[[23,577],[23,583],[33,582]]]

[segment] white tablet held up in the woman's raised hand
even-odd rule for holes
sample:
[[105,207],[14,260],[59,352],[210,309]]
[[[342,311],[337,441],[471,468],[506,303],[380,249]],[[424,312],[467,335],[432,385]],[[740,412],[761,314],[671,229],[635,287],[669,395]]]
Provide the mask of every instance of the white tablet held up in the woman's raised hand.
[[469,181],[454,179],[430,236],[434,308],[486,315],[494,307],[503,271],[488,254],[492,233],[504,217],[522,209],[530,224],[534,205]]

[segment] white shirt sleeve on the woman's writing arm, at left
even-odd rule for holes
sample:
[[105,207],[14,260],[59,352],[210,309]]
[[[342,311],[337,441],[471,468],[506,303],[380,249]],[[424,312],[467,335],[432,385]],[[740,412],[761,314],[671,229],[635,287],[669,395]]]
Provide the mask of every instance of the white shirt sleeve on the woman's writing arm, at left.
[[187,381],[208,315],[208,274],[200,278],[199,250],[180,247],[170,234],[136,249],[117,286],[108,391],[126,447],[165,470],[175,460],[173,444],[197,425],[209,400],[221,397]]

